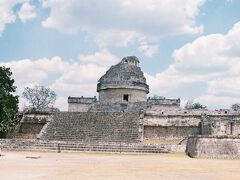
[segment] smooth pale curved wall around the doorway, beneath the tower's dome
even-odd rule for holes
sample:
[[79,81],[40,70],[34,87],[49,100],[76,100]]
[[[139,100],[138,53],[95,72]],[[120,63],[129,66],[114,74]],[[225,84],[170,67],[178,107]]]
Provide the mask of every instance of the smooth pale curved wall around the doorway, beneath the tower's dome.
[[129,102],[146,101],[146,91],[131,88],[105,89],[99,92],[100,102],[123,102],[123,95],[128,95]]

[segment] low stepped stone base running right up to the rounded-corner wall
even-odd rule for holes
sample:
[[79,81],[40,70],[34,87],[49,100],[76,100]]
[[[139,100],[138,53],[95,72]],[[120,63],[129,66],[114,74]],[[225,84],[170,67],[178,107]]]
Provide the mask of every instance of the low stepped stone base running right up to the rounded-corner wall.
[[115,153],[168,153],[184,151],[184,145],[150,145],[141,143],[82,143],[66,141],[0,139],[5,150],[53,152],[115,152]]

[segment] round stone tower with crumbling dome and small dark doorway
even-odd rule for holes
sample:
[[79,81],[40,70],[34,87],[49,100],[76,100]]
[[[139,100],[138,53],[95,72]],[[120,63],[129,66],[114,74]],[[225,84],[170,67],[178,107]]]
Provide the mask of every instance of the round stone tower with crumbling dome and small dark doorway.
[[135,56],[124,57],[112,66],[97,84],[100,102],[140,102],[147,100],[149,86]]

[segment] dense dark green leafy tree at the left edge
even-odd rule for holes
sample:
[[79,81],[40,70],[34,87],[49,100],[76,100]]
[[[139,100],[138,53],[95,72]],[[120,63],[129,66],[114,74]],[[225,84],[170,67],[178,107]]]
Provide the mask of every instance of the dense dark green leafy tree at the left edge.
[[10,68],[0,67],[0,137],[6,136],[18,112],[18,96]]

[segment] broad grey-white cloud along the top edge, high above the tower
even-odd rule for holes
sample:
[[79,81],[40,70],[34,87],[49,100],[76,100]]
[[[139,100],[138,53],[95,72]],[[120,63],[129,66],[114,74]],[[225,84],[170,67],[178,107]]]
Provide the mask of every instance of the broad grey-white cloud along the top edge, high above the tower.
[[[205,0],[44,0],[50,8],[43,27],[65,33],[87,32],[101,48],[127,46],[145,37],[202,33],[195,17]],[[177,17],[177,18],[176,18]],[[155,47],[141,46],[150,56]],[[146,50],[147,49],[147,50]]]

